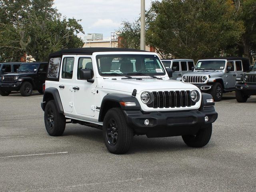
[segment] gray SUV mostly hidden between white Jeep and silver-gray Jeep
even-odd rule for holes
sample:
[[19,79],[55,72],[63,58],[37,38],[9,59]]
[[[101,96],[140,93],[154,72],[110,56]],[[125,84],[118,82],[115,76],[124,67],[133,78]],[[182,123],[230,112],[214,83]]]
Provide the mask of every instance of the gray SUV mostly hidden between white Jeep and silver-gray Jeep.
[[171,68],[174,71],[171,78],[174,80],[191,72],[194,67],[194,60],[192,59],[161,59],[161,61],[165,68]]

